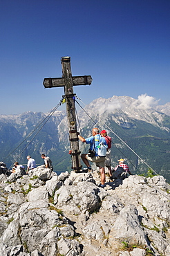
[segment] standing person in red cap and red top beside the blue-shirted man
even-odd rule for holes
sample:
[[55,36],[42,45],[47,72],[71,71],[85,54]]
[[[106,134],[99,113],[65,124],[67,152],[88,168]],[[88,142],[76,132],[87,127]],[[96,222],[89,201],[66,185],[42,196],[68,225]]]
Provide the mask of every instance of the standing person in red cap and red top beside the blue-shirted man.
[[111,181],[113,181],[112,170],[111,170],[111,137],[107,136],[106,130],[100,131],[102,137],[105,138],[106,143],[108,145],[107,152],[106,152],[106,160],[105,166],[108,168],[108,174]]

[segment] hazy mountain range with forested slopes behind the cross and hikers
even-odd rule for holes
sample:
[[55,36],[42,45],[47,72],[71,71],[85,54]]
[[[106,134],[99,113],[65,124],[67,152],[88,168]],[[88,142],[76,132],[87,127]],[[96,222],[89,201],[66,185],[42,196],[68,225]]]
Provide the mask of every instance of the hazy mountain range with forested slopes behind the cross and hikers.
[[[85,107],[79,102],[77,131],[87,138],[93,127],[106,129],[113,140],[113,167],[117,159],[124,158],[133,173],[147,173],[149,165],[170,182],[170,102],[161,106],[148,97],[141,95],[135,100],[113,95],[108,99],[97,98]],[[26,156],[31,155],[37,164],[42,164],[40,154],[44,153],[50,156],[57,172],[70,170],[66,111],[57,109],[47,121],[48,115],[32,111],[0,115],[0,161],[8,167],[16,160],[26,164]],[[81,142],[79,147],[81,152],[88,151]]]

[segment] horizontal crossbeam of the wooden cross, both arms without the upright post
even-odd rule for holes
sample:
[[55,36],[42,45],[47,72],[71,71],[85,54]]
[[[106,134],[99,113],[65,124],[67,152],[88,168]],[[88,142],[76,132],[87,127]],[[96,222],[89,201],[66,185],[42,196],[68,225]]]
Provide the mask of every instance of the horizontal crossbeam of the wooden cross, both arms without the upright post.
[[[91,75],[84,76],[73,76],[73,85],[86,85],[91,84],[92,77]],[[52,88],[52,87],[64,87],[64,77],[56,77],[56,78],[44,78],[44,87]]]

